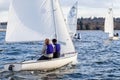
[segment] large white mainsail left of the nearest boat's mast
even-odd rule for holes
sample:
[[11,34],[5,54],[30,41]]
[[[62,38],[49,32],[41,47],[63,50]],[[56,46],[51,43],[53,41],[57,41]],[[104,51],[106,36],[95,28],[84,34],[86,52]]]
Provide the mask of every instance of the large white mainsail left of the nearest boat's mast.
[[12,0],[6,32],[7,42],[53,38],[50,0]]

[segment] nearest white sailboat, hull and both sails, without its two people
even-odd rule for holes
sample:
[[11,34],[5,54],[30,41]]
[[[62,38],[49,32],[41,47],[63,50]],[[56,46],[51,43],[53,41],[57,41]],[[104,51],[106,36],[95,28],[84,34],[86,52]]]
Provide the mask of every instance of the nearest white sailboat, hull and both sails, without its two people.
[[43,41],[45,38],[58,40],[60,58],[9,63],[4,70],[48,71],[77,62],[77,52],[67,31],[59,0],[12,0],[6,42]]

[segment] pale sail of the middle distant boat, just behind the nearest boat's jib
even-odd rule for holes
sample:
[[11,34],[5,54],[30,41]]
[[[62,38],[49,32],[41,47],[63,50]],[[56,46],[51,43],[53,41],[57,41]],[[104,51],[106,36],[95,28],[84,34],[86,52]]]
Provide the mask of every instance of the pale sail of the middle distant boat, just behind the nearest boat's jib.
[[74,36],[77,30],[77,5],[78,2],[72,6],[67,17],[68,31],[71,36]]

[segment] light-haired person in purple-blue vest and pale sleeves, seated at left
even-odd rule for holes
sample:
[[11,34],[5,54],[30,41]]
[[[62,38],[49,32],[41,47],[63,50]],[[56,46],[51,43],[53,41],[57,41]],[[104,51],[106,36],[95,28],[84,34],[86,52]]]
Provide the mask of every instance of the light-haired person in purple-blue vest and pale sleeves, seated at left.
[[48,60],[53,58],[53,45],[49,39],[45,39],[45,44],[42,49],[42,56],[38,60]]

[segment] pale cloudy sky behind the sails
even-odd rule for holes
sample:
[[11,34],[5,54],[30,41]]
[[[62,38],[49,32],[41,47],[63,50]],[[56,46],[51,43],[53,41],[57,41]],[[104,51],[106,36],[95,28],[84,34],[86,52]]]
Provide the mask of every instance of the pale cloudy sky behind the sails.
[[[11,0],[0,0],[0,22],[8,20]],[[69,9],[77,0],[60,0],[66,17]],[[113,5],[114,17],[120,17],[120,0],[78,0],[78,17],[104,17],[107,9]]]

